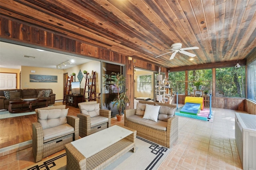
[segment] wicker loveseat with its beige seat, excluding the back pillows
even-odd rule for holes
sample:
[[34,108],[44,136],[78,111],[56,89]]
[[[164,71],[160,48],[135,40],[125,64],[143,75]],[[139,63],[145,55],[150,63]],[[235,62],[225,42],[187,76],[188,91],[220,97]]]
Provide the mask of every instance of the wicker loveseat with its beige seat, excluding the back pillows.
[[[148,105],[160,105],[164,107],[176,108],[176,105],[156,103],[148,101],[139,101]],[[137,104],[138,105],[138,104]],[[137,107],[138,108],[138,107]],[[142,119],[142,116],[136,115],[136,109],[128,109],[124,111],[124,126],[137,130],[137,135],[146,138],[152,142],[156,142],[170,148],[178,139],[178,117],[172,116],[165,121],[160,121],[158,117],[157,123],[152,120]],[[160,127],[160,128],[158,128]]]

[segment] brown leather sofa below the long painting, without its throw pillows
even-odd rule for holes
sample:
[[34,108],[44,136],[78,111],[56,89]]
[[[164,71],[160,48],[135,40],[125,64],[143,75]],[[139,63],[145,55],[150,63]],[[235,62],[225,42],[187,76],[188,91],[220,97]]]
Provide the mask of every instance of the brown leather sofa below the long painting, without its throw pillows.
[[[38,93],[43,90],[50,90],[49,97],[38,97]],[[6,99],[4,91],[17,91],[20,92],[19,96],[16,96],[13,99]],[[52,89],[4,89],[0,90],[0,109],[7,109],[9,107],[9,102],[14,101],[15,99],[27,99],[27,98],[38,98],[38,99],[47,99],[48,105],[55,103],[55,94],[52,93]],[[33,103],[32,107],[43,106],[45,102]],[[28,104],[12,105],[12,109],[18,108],[28,108]]]

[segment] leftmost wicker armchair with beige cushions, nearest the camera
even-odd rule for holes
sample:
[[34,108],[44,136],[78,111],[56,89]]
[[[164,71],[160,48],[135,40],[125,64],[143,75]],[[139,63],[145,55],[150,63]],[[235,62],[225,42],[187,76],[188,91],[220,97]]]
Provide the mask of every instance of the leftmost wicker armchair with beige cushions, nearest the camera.
[[32,152],[35,162],[63,150],[79,138],[79,118],[67,116],[66,105],[36,109],[38,122],[32,123]]

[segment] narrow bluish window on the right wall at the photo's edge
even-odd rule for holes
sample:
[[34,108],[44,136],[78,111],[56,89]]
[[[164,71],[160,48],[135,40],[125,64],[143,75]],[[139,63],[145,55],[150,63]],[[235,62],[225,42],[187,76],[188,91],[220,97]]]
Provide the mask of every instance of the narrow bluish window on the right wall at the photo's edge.
[[248,88],[247,98],[256,102],[256,61],[247,66]]

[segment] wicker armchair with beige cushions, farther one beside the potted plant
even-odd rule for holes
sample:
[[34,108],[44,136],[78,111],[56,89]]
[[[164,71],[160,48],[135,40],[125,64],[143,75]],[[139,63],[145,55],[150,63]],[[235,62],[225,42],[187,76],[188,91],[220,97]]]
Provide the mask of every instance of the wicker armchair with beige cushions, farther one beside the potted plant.
[[97,101],[78,103],[79,136],[82,138],[111,126],[111,111],[100,109]]

